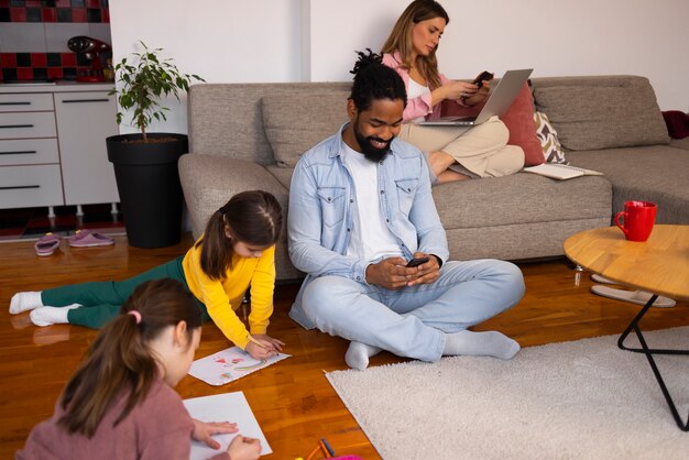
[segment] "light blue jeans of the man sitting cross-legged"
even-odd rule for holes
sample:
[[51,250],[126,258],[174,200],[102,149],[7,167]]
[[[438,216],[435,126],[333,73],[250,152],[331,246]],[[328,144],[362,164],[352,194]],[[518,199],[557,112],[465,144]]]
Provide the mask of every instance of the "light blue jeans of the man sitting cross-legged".
[[516,305],[520,269],[504,261],[446,262],[433,284],[389,291],[341,276],[322,276],[304,292],[316,327],[400,357],[437,361],[445,335],[464,330]]

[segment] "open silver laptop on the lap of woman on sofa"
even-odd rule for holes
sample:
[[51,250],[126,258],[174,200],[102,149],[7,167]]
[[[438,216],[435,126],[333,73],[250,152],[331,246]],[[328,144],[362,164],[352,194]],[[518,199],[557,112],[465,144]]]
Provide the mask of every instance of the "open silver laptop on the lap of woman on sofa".
[[436,127],[473,127],[488,121],[491,117],[502,117],[520,92],[522,85],[532,75],[533,68],[520,70],[507,70],[505,75],[497,81],[491,95],[485,101],[485,106],[475,117],[442,117],[437,120],[426,120],[418,124],[436,125]]

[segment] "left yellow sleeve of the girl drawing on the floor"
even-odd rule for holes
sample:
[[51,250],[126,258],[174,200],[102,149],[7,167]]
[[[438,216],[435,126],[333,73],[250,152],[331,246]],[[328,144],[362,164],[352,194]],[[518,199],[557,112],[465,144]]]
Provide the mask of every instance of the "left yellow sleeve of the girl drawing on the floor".
[[[234,313],[233,306],[230,304],[230,298],[225,291],[223,283],[209,278],[201,270],[200,250],[192,249],[192,251],[194,251],[194,253],[187,254],[184,261],[185,277],[187,278],[187,284],[192,293],[206,305],[208,315],[222,331],[225,337],[243,350],[247,343],[249,343],[249,331],[247,327]],[[240,286],[234,284],[234,287]],[[243,291],[247,291],[247,287],[249,287],[248,282]],[[236,307],[239,307],[239,305]]]

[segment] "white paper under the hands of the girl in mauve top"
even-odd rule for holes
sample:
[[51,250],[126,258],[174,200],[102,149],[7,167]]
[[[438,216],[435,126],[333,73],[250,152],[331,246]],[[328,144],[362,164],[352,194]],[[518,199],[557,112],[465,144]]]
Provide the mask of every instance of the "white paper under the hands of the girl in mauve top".
[[249,438],[260,439],[262,456],[273,453],[242,392],[184,399],[184,405],[192,417],[197,420],[230,421],[237,424],[237,428],[239,429],[238,432],[231,435],[214,436],[214,439],[220,442],[221,447],[219,450],[211,449],[201,442],[192,441],[190,460],[206,460],[223,452],[238,434]]

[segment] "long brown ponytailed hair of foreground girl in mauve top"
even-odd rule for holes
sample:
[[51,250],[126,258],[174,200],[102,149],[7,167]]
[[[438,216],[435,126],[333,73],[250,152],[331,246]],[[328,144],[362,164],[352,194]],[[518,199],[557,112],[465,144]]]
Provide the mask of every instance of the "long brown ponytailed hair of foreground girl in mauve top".
[[108,322],[72,376],[61,397],[65,415],[59,419],[69,434],[94,436],[116,398],[129,397],[114,425],[147,395],[158,364],[147,343],[169,326],[186,321],[189,339],[200,327],[201,314],[182,283],[162,278],[141,284]]

